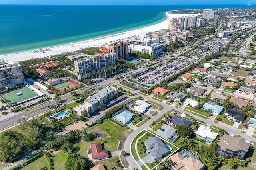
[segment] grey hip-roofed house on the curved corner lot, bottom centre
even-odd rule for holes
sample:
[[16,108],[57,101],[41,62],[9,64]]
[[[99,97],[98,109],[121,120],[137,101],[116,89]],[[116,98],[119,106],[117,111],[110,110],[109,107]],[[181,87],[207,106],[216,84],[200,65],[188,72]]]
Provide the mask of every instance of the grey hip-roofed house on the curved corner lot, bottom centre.
[[148,153],[155,160],[162,159],[162,157],[168,155],[171,152],[159,137],[149,137],[145,141],[145,145]]

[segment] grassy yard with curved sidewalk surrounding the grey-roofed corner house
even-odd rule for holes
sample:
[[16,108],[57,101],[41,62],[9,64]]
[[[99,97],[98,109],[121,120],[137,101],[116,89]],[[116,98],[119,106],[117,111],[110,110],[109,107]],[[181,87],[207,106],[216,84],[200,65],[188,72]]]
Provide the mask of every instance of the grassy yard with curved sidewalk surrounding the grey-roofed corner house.
[[[136,161],[142,161],[142,159],[146,156],[148,156],[147,154],[147,148],[145,145],[145,141],[146,139],[148,139],[148,137],[159,137],[162,141],[164,141],[164,143],[171,148],[171,153],[168,154],[167,156],[165,156],[164,159],[162,159],[162,161],[164,161],[166,158],[168,158],[169,156],[171,156],[172,154],[174,154],[177,150],[179,150],[178,147],[176,147],[175,145],[173,145],[172,143],[170,143],[169,141],[163,139],[162,137],[155,135],[153,133],[151,133],[150,131],[147,130],[143,130],[142,132],[140,132],[132,141],[131,144],[131,152],[132,152],[132,156],[134,157],[134,160]],[[161,162],[162,162],[161,161]],[[158,166],[162,166],[161,162],[158,164]],[[143,163],[143,162],[142,162]],[[156,166],[155,166],[156,167]],[[146,166],[143,165],[141,166],[141,168],[144,170],[148,170],[148,169],[152,169],[155,168],[153,167],[152,163],[146,163]]]

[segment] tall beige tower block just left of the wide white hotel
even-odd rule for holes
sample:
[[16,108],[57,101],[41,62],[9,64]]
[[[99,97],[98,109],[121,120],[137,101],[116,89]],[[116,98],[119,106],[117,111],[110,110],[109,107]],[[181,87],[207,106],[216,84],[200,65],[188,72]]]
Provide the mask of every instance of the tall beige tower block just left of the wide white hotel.
[[118,41],[108,46],[109,53],[116,53],[116,58],[121,59],[128,54],[128,43]]

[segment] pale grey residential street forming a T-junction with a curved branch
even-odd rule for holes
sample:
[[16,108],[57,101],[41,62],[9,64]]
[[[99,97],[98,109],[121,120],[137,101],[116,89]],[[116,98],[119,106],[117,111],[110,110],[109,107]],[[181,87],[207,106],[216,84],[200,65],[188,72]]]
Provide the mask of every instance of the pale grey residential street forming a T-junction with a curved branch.
[[[122,86],[123,87],[123,86]],[[123,87],[124,88],[124,87]],[[124,88],[125,90],[130,90],[130,89],[127,89],[127,88]],[[137,92],[137,90],[132,90],[134,92]],[[164,115],[164,113],[166,113],[167,111],[171,111],[172,109],[176,110],[176,111],[179,111],[179,112],[183,112],[183,113],[187,113],[189,115],[192,115],[194,118],[196,119],[199,119],[199,120],[202,120],[204,121],[207,125],[214,125],[214,126],[217,126],[217,127],[220,127],[222,129],[225,129],[227,130],[230,134],[232,135],[240,135],[242,136],[243,138],[246,139],[246,141],[256,141],[256,139],[250,135],[247,135],[247,134],[244,134],[244,133],[241,133],[240,131],[237,131],[236,128],[232,127],[232,126],[229,126],[229,125],[226,125],[224,123],[215,123],[214,122],[214,119],[212,118],[209,118],[209,119],[204,119],[202,117],[199,117],[199,116],[196,116],[194,114],[191,114],[191,113],[188,113],[186,111],[184,111],[183,109],[180,109],[180,108],[176,108],[174,106],[170,106],[168,104],[166,104],[165,102],[159,102],[158,100],[154,100],[153,98],[150,98],[148,96],[143,96],[141,94],[138,94],[139,96],[145,98],[145,100],[151,100],[153,102],[156,102],[158,104],[161,104],[162,106],[164,106],[164,109],[162,111],[158,111],[158,114],[154,117],[152,117],[149,121],[147,121],[146,123],[144,123],[142,126],[140,126],[140,128],[134,130],[134,132],[132,132],[126,139],[126,141],[124,142],[124,150],[126,152],[129,152],[130,154],[126,157],[126,160],[128,161],[130,167],[129,169],[132,169],[132,168],[136,168],[138,170],[140,170],[140,166],[138,166],[137,164],[137,161],[134,160],[133,156],[132,156],[132,153],[131,153],[131,144],[132,144],[132,141],[134,139],[134,137],[136,137],[136,135],[138,135],[138,133],[140,133],[141,131],[143,131],[144,129],[147,129],[148,126],[153,122],[153,121],[156,121],[158,118],[160,118],[162,115]]]

